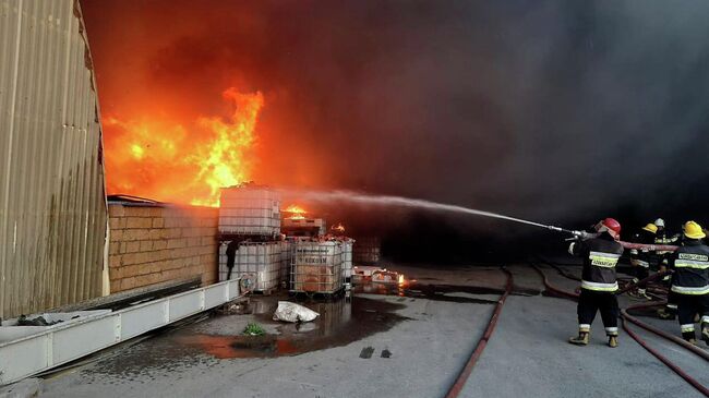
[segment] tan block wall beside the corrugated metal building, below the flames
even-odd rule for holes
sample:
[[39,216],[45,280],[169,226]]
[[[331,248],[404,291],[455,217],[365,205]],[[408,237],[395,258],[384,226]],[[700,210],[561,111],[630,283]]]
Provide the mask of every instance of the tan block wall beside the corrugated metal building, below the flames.
[[109,203],[108,214],[111,293],[195,276],[217,281],[217,208]]

